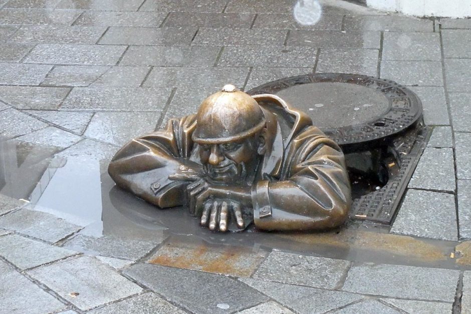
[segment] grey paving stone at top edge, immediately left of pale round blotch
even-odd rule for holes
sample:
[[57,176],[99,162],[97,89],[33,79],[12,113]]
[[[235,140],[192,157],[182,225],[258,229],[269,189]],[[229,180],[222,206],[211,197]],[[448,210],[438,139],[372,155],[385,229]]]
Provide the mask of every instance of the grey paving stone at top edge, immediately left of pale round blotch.
[[270,0],[230,0],[225,12],[241,13],[291,13],[293,11],[293,1],[279,0],[277,5],[273,5]]

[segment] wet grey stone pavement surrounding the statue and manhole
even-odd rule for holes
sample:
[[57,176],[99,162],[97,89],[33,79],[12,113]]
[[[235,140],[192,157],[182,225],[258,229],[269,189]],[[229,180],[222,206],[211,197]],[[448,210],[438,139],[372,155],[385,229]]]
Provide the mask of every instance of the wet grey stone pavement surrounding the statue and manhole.
[[[302,26],[292,0],[0,0],[0,313],[471,313],[471,20],[321,3]],[[226,83],[312,72],[422,100],[434,129],[389,234],[214,245],[108,210],[134,201],[106,175],[127,140]]]

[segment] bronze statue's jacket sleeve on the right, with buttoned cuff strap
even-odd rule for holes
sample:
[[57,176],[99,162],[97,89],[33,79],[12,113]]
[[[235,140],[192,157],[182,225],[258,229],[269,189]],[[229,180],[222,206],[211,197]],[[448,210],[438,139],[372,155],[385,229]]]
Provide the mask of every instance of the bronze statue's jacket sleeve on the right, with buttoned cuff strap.
[[288,147],[281,180],[259,181],[252,189],[252,202],[260,229],[341,225],[352,202],[342,150],[318,128],[306,128]]

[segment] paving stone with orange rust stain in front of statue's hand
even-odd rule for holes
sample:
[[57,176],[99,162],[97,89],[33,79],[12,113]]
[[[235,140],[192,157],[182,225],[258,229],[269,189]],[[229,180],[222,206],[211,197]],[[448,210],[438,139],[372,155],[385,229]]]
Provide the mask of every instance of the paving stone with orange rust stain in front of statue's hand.
[[151,264],[248,277],[268,252],[239,246],[210,247],[206,244],[172,241],[161,247]]

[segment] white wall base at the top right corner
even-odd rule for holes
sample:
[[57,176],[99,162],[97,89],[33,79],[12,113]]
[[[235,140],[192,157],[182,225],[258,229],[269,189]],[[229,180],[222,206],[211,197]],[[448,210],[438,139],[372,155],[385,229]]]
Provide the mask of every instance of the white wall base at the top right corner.
[[418,17],[471,17],[471,0],[367,0],[370,8]]

